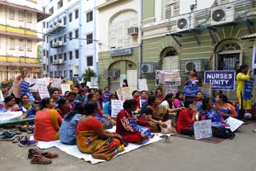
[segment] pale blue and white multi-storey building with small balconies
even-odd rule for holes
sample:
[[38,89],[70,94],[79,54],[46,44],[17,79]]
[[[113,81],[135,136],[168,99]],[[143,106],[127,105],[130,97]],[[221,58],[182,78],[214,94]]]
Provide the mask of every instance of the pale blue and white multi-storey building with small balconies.
[[42,10],[51,14],[42,22],[44,74],[81,77],[88,68],[97,73],[94,6],[94,0],[42,1]]

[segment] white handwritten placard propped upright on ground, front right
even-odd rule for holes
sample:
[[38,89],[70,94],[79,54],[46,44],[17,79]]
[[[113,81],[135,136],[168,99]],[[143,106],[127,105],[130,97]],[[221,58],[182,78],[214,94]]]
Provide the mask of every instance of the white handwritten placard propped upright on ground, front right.
[[212,137],[211,121],[195,121],[194,122],[194,137],[196,140],[205,137]]

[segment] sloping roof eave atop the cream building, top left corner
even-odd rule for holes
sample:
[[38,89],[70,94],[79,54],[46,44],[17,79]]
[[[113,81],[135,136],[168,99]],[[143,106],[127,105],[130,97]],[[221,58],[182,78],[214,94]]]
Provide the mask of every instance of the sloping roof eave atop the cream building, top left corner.
[[28,11],[36,12],[37,13],[38,22],[41,22],[42,20],[50,17],[50,15],[51,15],[51,14],[48,14],[48,13],[44,13],[41,10],[38,10],[38,9],[35,9],[35,8],[30,8],[28,6],[20,6],[20,5],[14,4],[14,3],[10,3],[10,2],[0,1],[0,4],[2,4],[4,6],[12,6],[14,8],[18,8],[18,9],[21,9],[21,10],[28,10]]

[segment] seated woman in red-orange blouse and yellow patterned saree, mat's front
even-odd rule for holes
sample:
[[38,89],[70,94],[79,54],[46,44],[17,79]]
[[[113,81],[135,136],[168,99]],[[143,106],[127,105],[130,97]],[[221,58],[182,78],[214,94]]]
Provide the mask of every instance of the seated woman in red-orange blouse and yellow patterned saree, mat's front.
[[124,151],[122,136],[103,129],[102,124],[94,116],[98,113],[96,101],[85,104],[82,117],[77,126],[77,145],[82,153],[90,153],[92,157],[110,161],[117,153]]

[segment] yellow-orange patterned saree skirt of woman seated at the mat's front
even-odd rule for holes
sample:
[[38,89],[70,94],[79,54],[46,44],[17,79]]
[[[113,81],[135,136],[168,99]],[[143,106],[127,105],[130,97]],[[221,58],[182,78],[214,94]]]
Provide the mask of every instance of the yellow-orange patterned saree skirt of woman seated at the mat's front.
[[90,153],[92,157],[110,161],[117,153],[125,151],[121,142],[113,137],[102,139],[93,130],[77,133],[78,149],[82,153]]

